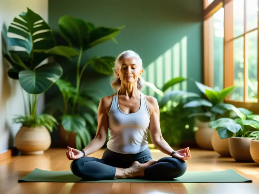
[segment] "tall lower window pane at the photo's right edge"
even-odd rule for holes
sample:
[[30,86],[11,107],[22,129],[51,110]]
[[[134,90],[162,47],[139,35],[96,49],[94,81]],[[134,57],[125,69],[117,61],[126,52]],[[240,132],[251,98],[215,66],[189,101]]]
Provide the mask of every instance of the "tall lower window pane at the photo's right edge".
[[257,102],[257,30],[246,36],[248,65],[248,102]]

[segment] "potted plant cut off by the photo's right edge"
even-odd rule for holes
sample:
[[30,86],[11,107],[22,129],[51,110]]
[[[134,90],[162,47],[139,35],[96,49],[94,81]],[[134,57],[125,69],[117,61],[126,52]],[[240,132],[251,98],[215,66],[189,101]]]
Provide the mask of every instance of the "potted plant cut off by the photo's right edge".
[[253,137],[250,143],[250,154],[255,163],[259,165],[259,131],[251,132],[250,137]]

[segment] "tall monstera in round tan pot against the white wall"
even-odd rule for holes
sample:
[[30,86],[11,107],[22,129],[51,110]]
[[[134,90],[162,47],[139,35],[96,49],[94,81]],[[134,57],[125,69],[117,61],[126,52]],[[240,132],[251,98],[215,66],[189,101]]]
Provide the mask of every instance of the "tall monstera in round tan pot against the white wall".
[[37,100],[62,76],[63,70],[58,63],[45,62],[51,56],[45,51],[55,47],[55,39],[44,19],[30,9],[19,16],[21,19],[15,17],[8,28],[7,47],[3,49],[11,65],[9,77],[19,80],[28,94],[28,104],[23,95],[25,115],[14,118],[21,124],[15,145],[23,154],[42,154],[51,145],[49,132],[57,122],[52,115],[37,114]]

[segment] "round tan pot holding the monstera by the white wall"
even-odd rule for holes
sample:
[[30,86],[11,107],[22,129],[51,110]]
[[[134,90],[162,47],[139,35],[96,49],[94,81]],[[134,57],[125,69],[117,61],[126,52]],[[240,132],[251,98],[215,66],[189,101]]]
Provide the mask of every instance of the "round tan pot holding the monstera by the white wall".
[[51,145],[51,136],[44,126],[22,126],[15,136],[15,145],[22,154],[43,154]]

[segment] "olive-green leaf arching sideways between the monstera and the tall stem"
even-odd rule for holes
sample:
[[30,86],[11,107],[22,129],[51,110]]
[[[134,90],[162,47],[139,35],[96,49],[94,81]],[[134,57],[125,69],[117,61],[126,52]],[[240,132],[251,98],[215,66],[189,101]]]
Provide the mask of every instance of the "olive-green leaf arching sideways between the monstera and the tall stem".
[[70,60],[72,60],[71,57],[79,55],[79,52],[76,49],[67,46],[55,46],[47,50],[46,53],[67,57]]

